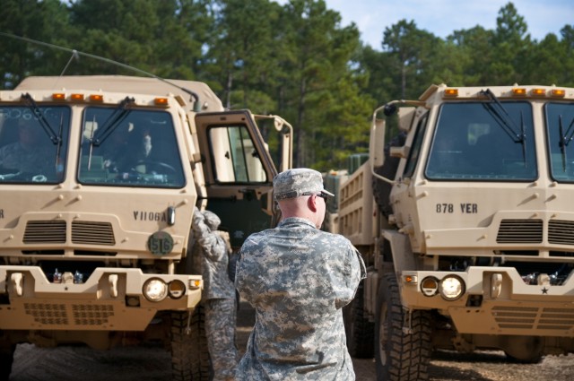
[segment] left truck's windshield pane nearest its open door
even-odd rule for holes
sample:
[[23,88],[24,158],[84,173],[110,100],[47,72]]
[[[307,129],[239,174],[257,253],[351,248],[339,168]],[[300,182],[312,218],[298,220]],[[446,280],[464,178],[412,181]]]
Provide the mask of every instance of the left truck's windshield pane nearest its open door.
[[[86,108],[78,181],[101,186],[185,186],[170,113]],[[111,123],[109,120],[113,120]]]

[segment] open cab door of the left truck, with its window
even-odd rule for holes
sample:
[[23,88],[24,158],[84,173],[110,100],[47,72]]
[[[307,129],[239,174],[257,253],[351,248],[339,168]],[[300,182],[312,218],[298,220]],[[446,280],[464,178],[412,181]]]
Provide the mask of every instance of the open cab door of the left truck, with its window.
[[207,192],[207,209],[222,219],[232,247],[249,234],[271,228],[277,216],[271,200],[275,165],[248,110],[196,117]]

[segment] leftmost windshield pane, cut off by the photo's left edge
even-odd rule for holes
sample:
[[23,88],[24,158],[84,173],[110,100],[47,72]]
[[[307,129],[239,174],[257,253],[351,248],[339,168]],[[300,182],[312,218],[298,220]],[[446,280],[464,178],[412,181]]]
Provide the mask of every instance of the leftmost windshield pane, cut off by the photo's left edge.
[[69,125],[67,107],[0,106],[0,184],[62,182]]

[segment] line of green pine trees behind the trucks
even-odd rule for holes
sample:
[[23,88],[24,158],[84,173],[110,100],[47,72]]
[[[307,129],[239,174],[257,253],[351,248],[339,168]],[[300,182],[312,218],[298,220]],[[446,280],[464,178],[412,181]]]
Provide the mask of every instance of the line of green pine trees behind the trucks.
[[[380,49],[342,25],[324,0],[3,0],[0,89],[29,75],[134,72],[208,83],[227,108],[281,115],[294,127],[294,165],[342,168],[366,152],[372,110],[417,99],[432,83],[574,86],[574,24],[538,41],[509,2],[496,29],[441,39],[401,20]],[[34,44],[5,34],[34,39]]]

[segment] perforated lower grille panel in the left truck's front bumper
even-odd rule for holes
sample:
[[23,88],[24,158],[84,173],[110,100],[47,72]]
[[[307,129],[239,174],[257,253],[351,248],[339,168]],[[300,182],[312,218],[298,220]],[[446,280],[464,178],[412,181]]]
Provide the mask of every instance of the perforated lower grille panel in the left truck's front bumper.
[[106,325],[114,316],[112,305],[24,303],[27,315],[41,325]]

